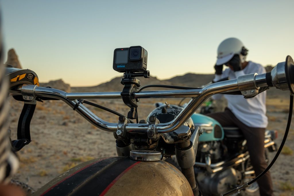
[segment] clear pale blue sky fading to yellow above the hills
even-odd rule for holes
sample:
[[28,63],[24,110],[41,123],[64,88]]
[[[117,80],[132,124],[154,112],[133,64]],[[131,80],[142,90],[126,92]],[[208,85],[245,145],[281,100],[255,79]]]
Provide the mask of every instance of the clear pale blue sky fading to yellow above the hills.
[[213,73],[218,44],[237,37],[248,60],[294,58],[294,1],[0,0],[5,51],[40,81],[94,86],[122,76],[115,48],[142,46],[159,79]]

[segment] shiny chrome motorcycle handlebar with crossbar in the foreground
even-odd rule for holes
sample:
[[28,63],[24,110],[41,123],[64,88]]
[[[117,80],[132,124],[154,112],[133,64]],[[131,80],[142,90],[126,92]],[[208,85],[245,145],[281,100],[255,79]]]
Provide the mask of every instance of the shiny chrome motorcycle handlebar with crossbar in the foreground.
[[[290,81],[293,81],[293,78],[289,77],[293,77],[292,75],[294,75],[291,73],[289,76],[289,74],[286,73],[289,66],[291,66],[291,69],[289,68],[289,70],[293,70],[293,60],[290,61],[290,63],[287,60],[286,62],[278,63],[270,74],[248,74],[240,76],[238,79],[212,83],[202,89],[140,91],[133,93],[132,96],[133,98],[192,98],[174,120],[168,123],[159,123],[155,125],[156,133],[167,133],[176,130],[183,125],[192,116],[196,109],[208,97],[214,94],[240,91],[245,98],[250,98],[258,94],[260,87],[276,87],[281,90],[289,90],[290,86],[293,85],[290,84]],[[292,91],[292,89],[290,90]],[[31,99],[36,97],[56,98],[66,102],[72,108],[76,108],[75,110],[80,115],[96,127],[109,132],[116,132],[118,129],[118,123],[109,123],[102,120],[84,105],[79,104],[77,99],[119,99],[121,98],[121,92],[66,93],[58,89],[27,85],[22,86],[20,91],[13,91],[13,94],[21,94],[23,97],[31,97]],[[129,133],[147,133],[148,124],[125,123],[123,129]]]

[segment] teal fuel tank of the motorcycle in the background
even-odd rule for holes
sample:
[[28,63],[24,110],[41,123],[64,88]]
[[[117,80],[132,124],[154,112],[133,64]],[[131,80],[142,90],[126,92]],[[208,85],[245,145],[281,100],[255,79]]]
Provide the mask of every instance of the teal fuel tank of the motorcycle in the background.
[[220,125],[218,121],[206,115],[196,113],[194,113],[191,116],[191,118],[193,120],[194,125],[200,126],[201,130],[203,130],[203,134],[199,137],[199,142],[223,140],[223,127]]

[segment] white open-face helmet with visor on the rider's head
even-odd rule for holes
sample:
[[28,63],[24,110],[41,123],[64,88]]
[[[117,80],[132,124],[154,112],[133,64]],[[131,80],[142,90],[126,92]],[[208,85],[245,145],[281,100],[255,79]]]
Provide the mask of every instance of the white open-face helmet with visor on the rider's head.
[[241,63],[245,61],[247,55],[247,49],[244,44],[237,38],[227,38],[218,46],[218,56],[216,65],[223,65],[230,61],[235,54],[238,54],[241,59]]

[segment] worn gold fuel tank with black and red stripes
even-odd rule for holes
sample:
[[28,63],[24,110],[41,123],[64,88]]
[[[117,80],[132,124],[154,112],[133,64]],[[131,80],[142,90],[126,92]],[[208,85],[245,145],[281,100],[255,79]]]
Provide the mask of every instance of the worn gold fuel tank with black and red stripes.
[[36,195],[184,195],[193,192],[184,175],[162,161],[107,157],[81,163],[48,182]]

